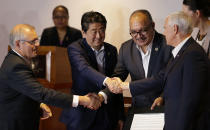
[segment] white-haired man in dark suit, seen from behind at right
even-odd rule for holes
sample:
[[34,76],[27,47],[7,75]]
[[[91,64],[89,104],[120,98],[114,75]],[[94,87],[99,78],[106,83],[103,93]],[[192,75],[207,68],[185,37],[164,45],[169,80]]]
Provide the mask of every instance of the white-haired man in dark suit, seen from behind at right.
[[175,48],[165,71],[149,79],[118,86],[129,90],[132,96],[163,89],[165,130],[210,129],[209,60],[203,48],[190,37],[191,32],[191,19],[186,14],[169,15],[164,34],[167,44]]

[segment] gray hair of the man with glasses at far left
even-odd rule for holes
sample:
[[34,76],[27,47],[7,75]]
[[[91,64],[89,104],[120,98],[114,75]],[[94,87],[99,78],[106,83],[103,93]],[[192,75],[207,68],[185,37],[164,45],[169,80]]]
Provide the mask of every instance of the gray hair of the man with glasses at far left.
[[14,48],[15,42],[18,40],[24,40],[26,38],[26,30],[34,31],[35,28],[29,24],[18,24],[10,32],[9,45],[11,48]]

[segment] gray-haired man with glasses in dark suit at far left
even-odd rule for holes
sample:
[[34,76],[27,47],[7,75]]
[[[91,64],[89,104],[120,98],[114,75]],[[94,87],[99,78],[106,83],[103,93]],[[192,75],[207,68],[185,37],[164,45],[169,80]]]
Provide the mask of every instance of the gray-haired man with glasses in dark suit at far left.
[[[100,106],[94,94],[76,96],[44,88],[30,68],[30,60],[37,55],[38,45],[37,34],[31,25],[16,25],[10,33],[12,50],[0,68],[1,130],[38,130],[41,102],[61,108],[78,104],[92,109]],[[51,114],[49,108],[41,107],[47,118]]]

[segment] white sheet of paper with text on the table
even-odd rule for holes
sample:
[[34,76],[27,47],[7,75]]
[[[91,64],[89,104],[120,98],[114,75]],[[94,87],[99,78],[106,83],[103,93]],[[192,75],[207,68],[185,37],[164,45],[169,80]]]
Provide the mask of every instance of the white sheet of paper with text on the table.
[[134,114],[131,130],[163,130],[163,113]]

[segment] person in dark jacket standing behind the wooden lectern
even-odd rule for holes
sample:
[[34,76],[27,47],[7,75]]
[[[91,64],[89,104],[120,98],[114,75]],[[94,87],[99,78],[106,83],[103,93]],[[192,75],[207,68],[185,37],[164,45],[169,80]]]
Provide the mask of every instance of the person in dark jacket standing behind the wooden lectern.
[[41,46],[67,47],[72,42],[82,38],[78,29],[68,25],[69,12],[65,6],[55,7],[52,18],[55,26],[44,29],[40,40]]

